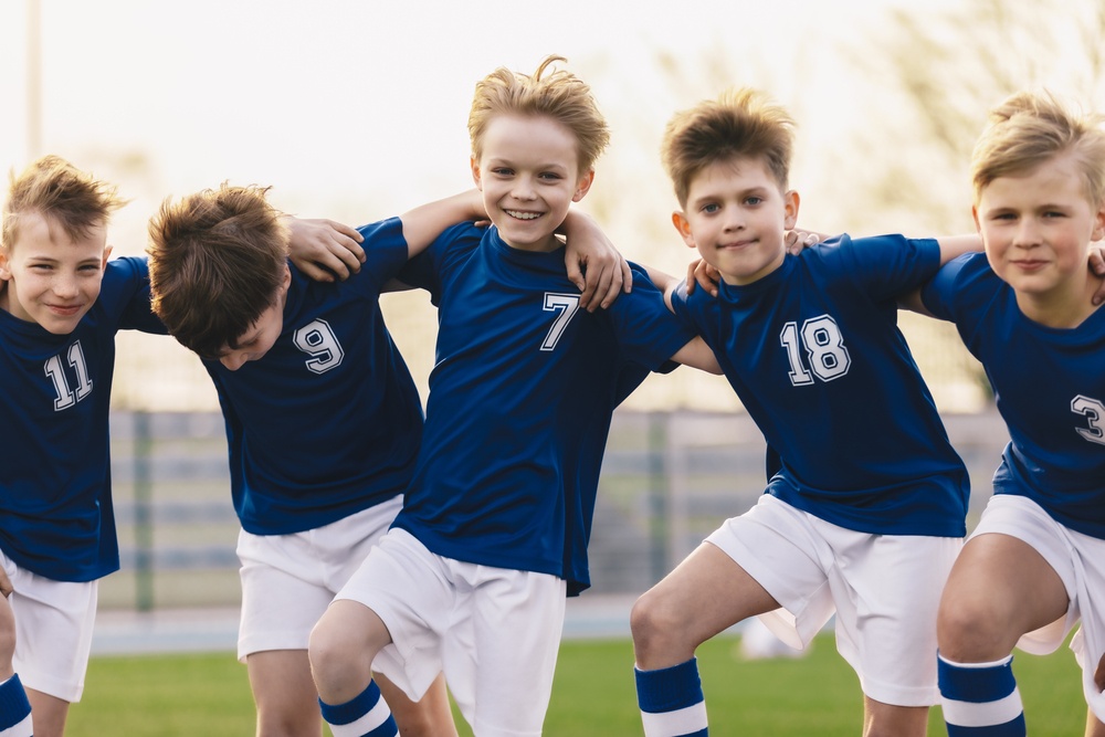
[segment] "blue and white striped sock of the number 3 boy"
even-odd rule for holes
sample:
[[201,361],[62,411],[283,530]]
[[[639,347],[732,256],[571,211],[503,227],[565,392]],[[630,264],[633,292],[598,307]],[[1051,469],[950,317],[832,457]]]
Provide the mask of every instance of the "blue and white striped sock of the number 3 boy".
[[1024,737],[1024,707],[1013,656],[953,663],[939,656],[940,706],[948,737]]

